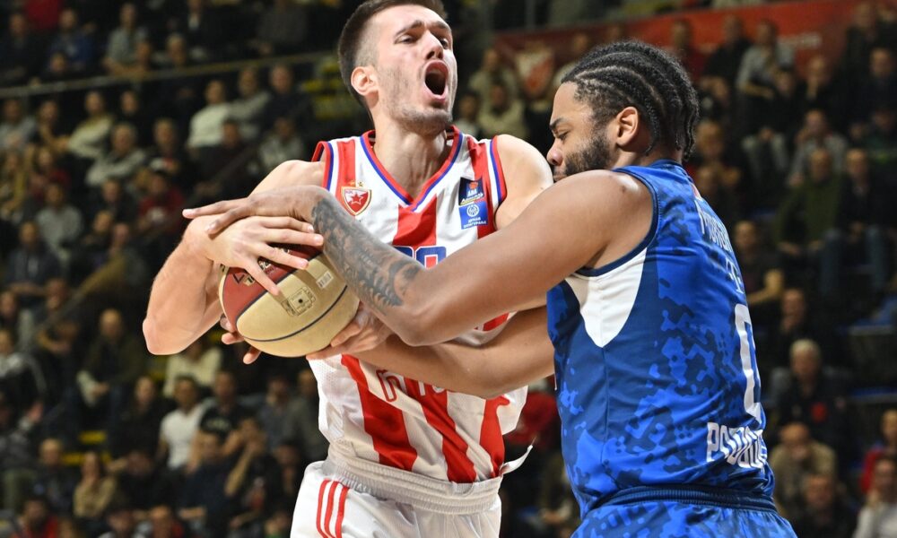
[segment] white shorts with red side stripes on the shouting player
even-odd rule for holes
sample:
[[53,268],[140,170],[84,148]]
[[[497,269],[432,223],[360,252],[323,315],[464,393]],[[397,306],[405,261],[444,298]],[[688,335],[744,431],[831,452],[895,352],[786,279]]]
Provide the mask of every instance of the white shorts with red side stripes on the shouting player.
[[497,538],[501,477],[439,481],[339,456],[305,470],[291,538]]

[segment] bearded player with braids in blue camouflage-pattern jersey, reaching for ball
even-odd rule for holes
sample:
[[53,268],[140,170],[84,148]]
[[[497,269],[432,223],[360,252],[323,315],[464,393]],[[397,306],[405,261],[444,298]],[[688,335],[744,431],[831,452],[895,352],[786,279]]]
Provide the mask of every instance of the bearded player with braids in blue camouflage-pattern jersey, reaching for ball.
[[[684,69],[658,48],[589,53],[554,100],[557,183],[430,269],[321,189],[186,214],[218,214],[210,233],[252,214],[312,223],[361,300],[406,343],[430,346],[361,354],[379,366],[479,395],[553,367],[575,536],[793,536],[771,500],[740,270],[681,164],[697,117]],[[436,344],[545,292],[547,315],[518,314],[485,349]]]

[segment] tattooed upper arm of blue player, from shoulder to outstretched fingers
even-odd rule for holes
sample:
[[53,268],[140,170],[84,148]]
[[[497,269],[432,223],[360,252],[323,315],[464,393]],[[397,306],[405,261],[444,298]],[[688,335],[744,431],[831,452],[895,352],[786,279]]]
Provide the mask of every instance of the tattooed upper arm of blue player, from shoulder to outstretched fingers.
[[212,230],[251,214],[310,221],[325,253],[362,301],[406,343],[444,342],[551,289],[586,265],[630,251],[649,231],[653,204],[634,178],[590,171],[564,179],[507,228],[431,269],[380,243],[321,188],[293,187],[212,204]]

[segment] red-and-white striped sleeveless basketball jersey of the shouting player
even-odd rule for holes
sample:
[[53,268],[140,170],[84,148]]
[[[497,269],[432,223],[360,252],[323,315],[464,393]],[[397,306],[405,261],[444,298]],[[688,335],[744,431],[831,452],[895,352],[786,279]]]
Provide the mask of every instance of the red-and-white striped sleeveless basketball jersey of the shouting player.
[[[431,266],[495,230],[507,190],[495,142],[449,131],[448,160],[413,198],[377,160],[374,133],[318,143],[324,187],[367,230]],[[465,334],[475,345],[497,334],[508,315]],[[431,386],[349,356],[313,360],[319,426],[349,455],[450,482],[500,473],[502,434],[513,430],[527,389],[484,400]]]

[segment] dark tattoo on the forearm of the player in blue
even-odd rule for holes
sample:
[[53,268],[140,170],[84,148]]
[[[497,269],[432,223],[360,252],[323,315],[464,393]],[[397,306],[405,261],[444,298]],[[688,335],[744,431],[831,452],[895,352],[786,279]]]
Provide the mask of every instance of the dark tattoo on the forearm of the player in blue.
[[420,264],[364,230],[332,196],[314,204],[311,221],[324,236],[324,253],[362,302],[380,313],[405,304]]

